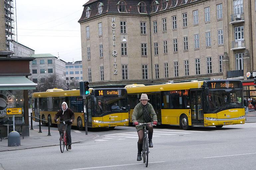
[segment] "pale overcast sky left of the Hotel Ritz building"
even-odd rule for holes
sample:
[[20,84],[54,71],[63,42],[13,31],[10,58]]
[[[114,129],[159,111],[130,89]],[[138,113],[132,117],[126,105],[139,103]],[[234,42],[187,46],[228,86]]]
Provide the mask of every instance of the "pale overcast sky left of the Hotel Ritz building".
[[50,53],[58,57],[59,52],[65,62],[72,62],[73,58],[82,60],[77,21],[87,1],[16,0],[17,41],[35,50],[35,54]]

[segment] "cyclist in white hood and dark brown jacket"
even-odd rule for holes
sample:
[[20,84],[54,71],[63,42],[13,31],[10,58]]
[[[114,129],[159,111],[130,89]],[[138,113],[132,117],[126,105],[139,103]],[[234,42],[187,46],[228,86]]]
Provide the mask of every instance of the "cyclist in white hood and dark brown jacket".
[[[61,118],[60,121],[66,121],[66,120],[71,120],[71,122],[74,121],[75,119],[75,114],[74,112],[67,108],[67,103],[63,102],[62,103],[62,109],[59,110],[55,117],[54,117],[54,122],[58,122],[58,118]],[[61,134],[61,133],[60,133]],[[68,145],[68,149],[71,149],[71,124],[67,125],[67,129],[66,129],[66,136],[67,136],[67,145]]]

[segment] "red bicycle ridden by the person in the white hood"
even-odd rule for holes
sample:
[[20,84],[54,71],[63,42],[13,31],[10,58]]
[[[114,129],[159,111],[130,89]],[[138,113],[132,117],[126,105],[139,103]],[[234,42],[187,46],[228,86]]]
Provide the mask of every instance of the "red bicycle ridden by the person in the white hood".
[[68,150],[68,145],[67,145],[67,140],[66,140],[66,129],[67,129],[67,124],[71,123],[71,120],[66,120],[66,121],[60,121],[60,124],[58,124],[58,130],[61,133],[60,137],[60,148],[61,152],[64,152],[64,148],[66,146],[66,150]]

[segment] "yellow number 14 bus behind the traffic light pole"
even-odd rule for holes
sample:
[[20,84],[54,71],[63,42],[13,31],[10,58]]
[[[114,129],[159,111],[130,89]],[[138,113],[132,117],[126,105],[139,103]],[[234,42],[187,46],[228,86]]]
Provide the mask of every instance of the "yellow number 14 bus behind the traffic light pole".
[[[129,113],[127,108],[127,91],[125,88],[96,88],[89,89],[90,94],[86,96],[85,108],[87,113],[87,127],[109,127],[128,126]],[[32,114],[35,117],[48,120],[50,125],[55,124],[54,116],[61,109],[65,101],[74,114],[75,120],[72,124],[79,130],[84,127],[84,104],[79,90],[48,89],[46,92],[36,92],[32,95]],[[37,119],[34,118],[34,121]],[[47,125],[46,121],[42,121]]]

